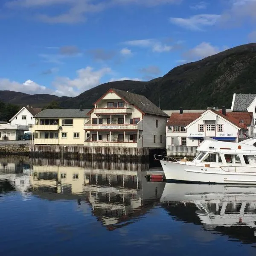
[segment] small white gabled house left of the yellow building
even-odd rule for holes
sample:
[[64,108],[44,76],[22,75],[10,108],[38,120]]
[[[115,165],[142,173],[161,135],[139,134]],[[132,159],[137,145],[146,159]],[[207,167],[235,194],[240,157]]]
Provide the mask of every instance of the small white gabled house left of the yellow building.
[[35,119],[33,116],[41,112],[41,108],[33,108],[30,105],[20,109],[18,113],[13,116],[9,122],[11,125],[23,125],[28,126],[29,131],[33,125],[35,125]]

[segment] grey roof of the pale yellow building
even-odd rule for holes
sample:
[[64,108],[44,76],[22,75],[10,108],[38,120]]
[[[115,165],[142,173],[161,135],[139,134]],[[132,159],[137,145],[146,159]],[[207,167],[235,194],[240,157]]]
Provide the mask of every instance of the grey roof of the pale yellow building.
[[38,118],[89,118],[87,113],[91,109],[44,109],[34,117]]

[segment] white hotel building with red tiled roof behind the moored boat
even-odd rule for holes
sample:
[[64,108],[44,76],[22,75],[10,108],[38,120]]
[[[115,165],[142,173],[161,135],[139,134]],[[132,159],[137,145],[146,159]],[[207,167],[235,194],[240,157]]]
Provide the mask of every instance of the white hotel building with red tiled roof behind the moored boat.
[[239,142],[253,136],[253,113],[226,113],[208,109],[204,113],[172,113],[166,125],[166,147],[198,146],[204,137]]

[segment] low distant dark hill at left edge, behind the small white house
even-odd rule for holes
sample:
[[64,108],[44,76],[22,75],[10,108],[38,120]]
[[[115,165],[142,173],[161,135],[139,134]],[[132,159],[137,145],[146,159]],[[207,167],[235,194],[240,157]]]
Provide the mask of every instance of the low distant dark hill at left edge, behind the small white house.
[[19,106],[32,105],[33,107],[44,107],[52,101],[62,102],[70,97],[58,97],[51,94],[26,94],[9,90],[0,90],[0,101],[12,103]]

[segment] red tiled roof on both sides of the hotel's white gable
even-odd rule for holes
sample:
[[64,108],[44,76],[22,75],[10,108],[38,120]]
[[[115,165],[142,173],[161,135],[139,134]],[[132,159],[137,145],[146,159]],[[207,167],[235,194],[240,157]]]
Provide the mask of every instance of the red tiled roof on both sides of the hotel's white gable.
[[[215,110],[210,110],[219,116],[223,117],[227,121],[233,123],[234,125],[238,126],[239,128],[242,129],[247,129],[246,125],[251,124],[252,116],[253,113],[251,112],[230,112],[226,113],[226,116],[222,114],[222,111],[215,111]],[[172,113],[170,116],[170,119],[167,122],[167,125],[189,125],[198,117],[200,117],[202,113]],[[241,123],[241,119],[244,120],[244,123]]]

